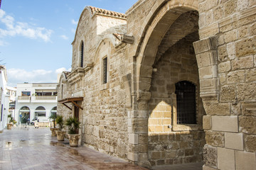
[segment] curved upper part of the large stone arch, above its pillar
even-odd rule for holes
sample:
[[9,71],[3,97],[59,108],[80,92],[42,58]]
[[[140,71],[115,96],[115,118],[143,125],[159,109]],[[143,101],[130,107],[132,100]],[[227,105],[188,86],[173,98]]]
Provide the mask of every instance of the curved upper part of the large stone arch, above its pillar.
[[[151,19],[153,14],[146,17],[142,28],[145,28],[142,33],[142,39],[137,49],[137,97],[142,98],[144,94],[148,95],[146,91],[150,89],[151,74],[153,71],[156,52],[161,40],[164,38],[167,30],[174,21],[187,11],[198,11],[198,1],[184,1],[178,0],[156,3],[152,8],[155,11],[154,19]],[[146,23],[149,22],[149,23]],[[145,34],[145,35],[144,35]],[[143,36],[144,35],[144,36]]]

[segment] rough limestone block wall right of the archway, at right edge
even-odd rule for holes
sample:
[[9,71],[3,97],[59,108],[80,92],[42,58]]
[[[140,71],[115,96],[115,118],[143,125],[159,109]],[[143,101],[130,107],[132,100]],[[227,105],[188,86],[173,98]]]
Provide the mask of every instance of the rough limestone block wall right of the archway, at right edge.
[[199,67],[207,113],[203,169],[255,169],[255,16],[255,1],[199,1],[196,55],[211,59]]

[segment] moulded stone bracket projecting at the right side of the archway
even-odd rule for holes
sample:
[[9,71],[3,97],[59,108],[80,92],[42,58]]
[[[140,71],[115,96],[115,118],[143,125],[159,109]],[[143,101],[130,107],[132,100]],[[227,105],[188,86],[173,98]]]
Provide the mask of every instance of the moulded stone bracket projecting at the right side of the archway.
[[217,36],[193,42],[202,98],[218,98],[217,43]]

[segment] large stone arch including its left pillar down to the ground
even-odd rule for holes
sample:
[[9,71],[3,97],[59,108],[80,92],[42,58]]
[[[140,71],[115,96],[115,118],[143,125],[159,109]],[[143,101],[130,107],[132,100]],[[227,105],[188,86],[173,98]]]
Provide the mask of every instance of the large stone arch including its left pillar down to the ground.
[[[134,54],[137,57],[135,73],[137,106],[134,106],[137,111],[132,111],[129,114],[130,119],[128,120],[129,150],[134,151],[128,153],[128,159],[142,166],[154,165],[151,164],[149,160],[151,156],[148,153],[148,101],[151,98],[151,75],[153,72],[156,72],[154,70],[154,64],[156,62],[156,56],[159,55],[159,45],[161,45],[164,36],[178,17],[189,11],[198,11],[198,1],[158,1],[142,24],[142,37],[137,45],[136,54]],[[194,31],[192,29],[181,35],[174,36],[175,38],[173,37],[173,41],[169,45],[175,44]],[[168,47],[163,47],[161,52],[164,53],[167,49]]]

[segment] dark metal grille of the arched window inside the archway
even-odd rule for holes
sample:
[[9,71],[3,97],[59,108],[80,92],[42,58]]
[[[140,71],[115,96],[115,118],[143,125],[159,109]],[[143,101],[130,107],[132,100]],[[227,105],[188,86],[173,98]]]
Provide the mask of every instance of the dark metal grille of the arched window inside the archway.
[[196,86],[179,81],[176,86],[177,124],[196,124]]

